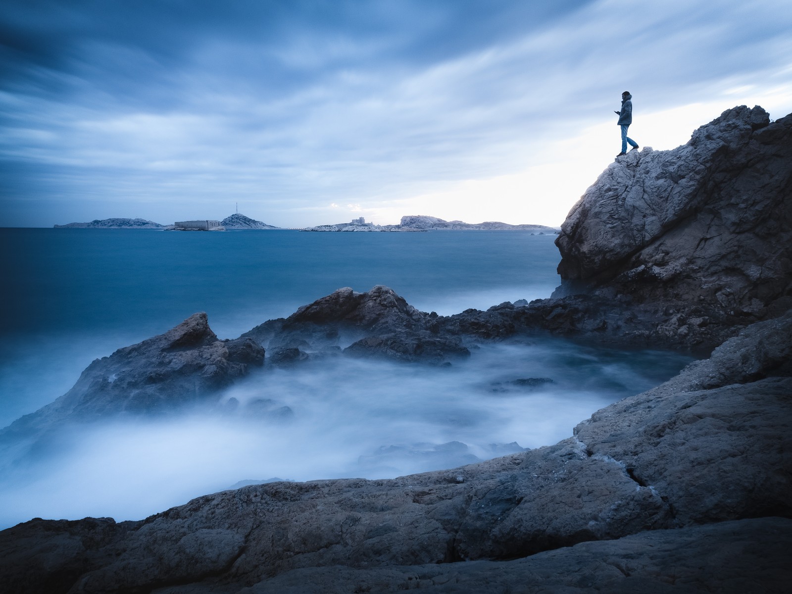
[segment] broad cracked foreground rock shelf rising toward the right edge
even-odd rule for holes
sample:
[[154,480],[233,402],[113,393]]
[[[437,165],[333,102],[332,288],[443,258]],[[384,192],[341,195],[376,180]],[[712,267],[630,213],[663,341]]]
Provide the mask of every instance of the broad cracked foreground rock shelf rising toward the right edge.
[[[663,588],[669,569],[657,567],[689,545],[681,574],[691,592],[739,592],[746,581],[782,592],[792,521],[750,519],[792,516],[790,342],[792,314],[749,326],[567,440],[455,470],[251,485],[140,522],[32,520],[0,533],[0,577],[9,592],[44,581],[50,592],[296,592],[287,588],[303,577],[311,592],[341,565],[340,583],[354,588],[417,576],[459,592],[443,588],[525,573],[626,592]],[[737,370],[735,360],[749,365]],[[612,542],[573,546],[602,540]],[[706,558],[717,570],[696,569]],[[490,561],[454,563],[463,560]]]

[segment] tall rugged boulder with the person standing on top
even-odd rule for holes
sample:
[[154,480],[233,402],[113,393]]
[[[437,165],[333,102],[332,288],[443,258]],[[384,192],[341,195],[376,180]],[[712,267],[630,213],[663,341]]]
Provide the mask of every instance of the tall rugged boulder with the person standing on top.
[[[674,150],[630,151],[570,211],[557,295],[707,304],[747,322],[792,307],[792,116],[745,106]],[[695,317],[691,316],[691,317]]]

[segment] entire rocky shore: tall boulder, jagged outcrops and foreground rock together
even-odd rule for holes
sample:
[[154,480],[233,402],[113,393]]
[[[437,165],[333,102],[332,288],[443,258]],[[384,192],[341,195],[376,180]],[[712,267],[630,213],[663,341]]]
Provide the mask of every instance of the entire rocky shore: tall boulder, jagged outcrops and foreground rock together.
[[556,240],[551,299],[444,317],[342,288],[234,341],[196,314],[94,361],[0,433],[6,455],[59,424],[211,402],[262,364],[456,363],[539,333],[703,357],[558,444],[482,463],[247,485],[139,521],[30,520],[0,532],[5,591],[787,592],[790,196],[792,115],[741,106],[607,167]]

